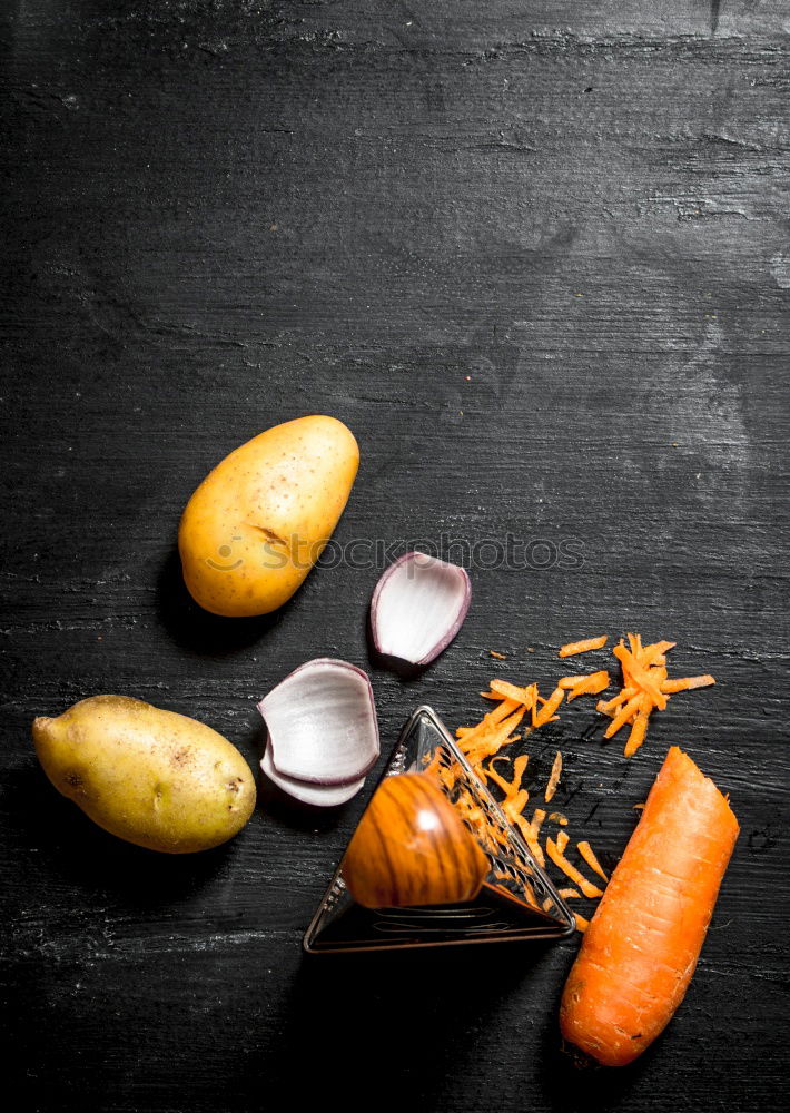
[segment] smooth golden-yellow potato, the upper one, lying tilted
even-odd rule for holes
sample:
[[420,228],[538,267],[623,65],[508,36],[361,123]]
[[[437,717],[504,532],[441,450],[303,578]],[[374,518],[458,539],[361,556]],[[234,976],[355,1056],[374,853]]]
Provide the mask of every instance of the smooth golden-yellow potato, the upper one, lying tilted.
[[335,417],[298,417],[247,441],[206,476],[178,530],[184,580],[214,614],[267,614],[290,599],[348,501],[359,464]]

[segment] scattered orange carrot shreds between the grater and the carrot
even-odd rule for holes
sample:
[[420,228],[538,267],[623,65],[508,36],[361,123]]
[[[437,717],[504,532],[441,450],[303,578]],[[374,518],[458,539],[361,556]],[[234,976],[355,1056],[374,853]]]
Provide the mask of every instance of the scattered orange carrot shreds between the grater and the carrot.
[[[602,649],[608,636],[586,638],[570,642],[560,649],[560,657],[574,657],[592,650]],[[703,688],[715,683],[711,676],[682,677],[669,679],[666,672],[666,653],[674,648],[675,642],[656,641],[642,646],[639,634],[628,634],[626,648],[621,639],[612,650],[620,663],[622,683],[618,695],[610,700],[600,700],[596,709],[611,718],[604,738],[612,738],[624,726],[630,725],[631,731],[624,748],[625,757],[632,757],[642,745],[646,733],[648,719],[654,709],[663,710],[669,697],[680,691]],[[503,654],[492,656],[503,658]],[[504,659],[504,658],[503,658]],[[511,776],[497,765],[511,762],[511,757],[501,752],[539,730],[547,722],[559,720],[556,713],[563,700],[572,702],[580,696],[598,696],[611,684],[606,670],[562,677],[553,691],[542,697],[537,684],[520,687],[507,680],[494,679],[487,691],[481,692],[485,699],[495,700],[497,706],[483,716],[474,727],[460,727],[456,737],[462,752],[484,784],[494,784],[504,795],[500,801],[507,820],[520,831],[535,860],[543,867],[546,858],[572,881],[571,887],[560,889],[564,899],[575,899],[582,896],[599,899],[603,889],[590,880],[579,868],[583,865],[595,874],[601,881],[606,883],[608,876],[601,866],[590,843],[582,839],[575,844],[580,858],[579,866],[566,857],[570,836],[564,829],[567,818],[559,811],[549,811],[545,807],[533,807],[527,817],[530,792],[524,787],[524,775],[530,761],[529,754],[520,754],[512,760]],[[520,727],[525,728],[523,736],[516,733]],[[557,751],[552,764],[549,780],[543,790],[542,804],[550,804],[562,776],[562,754]],[[554,827],[549,834],[547,827]],[[543,843],[542,843],[543,837]],[[576,915],[576,925],[584,930],[589,920]]]

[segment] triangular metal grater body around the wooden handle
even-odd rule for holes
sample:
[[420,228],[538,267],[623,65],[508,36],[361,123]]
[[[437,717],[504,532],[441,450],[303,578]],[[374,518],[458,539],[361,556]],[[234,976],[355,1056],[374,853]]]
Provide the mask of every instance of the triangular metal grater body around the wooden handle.
[[480,894],[464,904],[364,908],[346,888],[340,861],[307,928],[305,951],[318,954],[554,939],[573,932],[572,913],[524,840],[507,823],[435,711],[421,707],[404,727],[384,777],[418,772],[431,761],[453,771],[445,781],[445,795],[451,801],[468,792],[485,817],[487,834],[483,839],[470,827],[490,864]]

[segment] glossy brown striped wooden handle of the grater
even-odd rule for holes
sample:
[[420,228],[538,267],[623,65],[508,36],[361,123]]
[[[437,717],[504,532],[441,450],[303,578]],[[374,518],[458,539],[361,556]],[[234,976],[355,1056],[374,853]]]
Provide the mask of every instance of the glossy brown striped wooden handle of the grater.
[[487,871],[453,805],[419,772],[382,781],[343,861],[344,880],[366,908],[472,900]]

